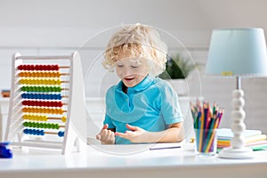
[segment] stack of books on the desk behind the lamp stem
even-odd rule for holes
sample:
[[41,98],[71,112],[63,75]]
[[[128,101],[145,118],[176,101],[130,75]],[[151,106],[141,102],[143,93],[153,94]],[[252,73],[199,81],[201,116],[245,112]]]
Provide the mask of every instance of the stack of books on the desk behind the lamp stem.
[[[242,135],[245,138],[245,146],[252,150],[267,149],[266,134],[260,130],[245,130]],[[233,134],[230,128],[217,129],[217,148],[222,149],[231,146]]]

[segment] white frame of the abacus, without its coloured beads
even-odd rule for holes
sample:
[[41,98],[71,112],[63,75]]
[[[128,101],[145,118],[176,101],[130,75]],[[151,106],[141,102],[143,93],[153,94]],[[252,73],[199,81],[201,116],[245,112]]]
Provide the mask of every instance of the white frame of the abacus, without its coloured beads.
[[[24,61],[31,60],[40,61],[43,63],[47,61],[69,60],[69,66],[63,67],[69,68],[69,81],[67,81],[69,88],[64,88],[65,90],[69,91],[68,96],[64,98],[64,101],[67,103],[67,106],[65,107],[66,122],[64,126],[61,126],[64,127],[64,132],[59,132],[59,135],[61,133],[62,136],[63,133],[64,136],[62,139],[58,139],[59,141],[50,141],[49,139],[40,140],[40,135],[44,135],[44,130],[42,130],[41,134],[38,136],[28,136],[28,134],[23,131],[23,98],[21,97],[19,80],[20,73],[18,67],[24,64]],[[40,65],[38,65],[38,67],[39,66]],[[84,152],[86,147],[86,106],[84,77],[82,71],[82,63],[77,52],[66,56],[21,56],[20,53],[14,53],[12,57],[11,96],[9,101],[8,120],[4,140],[6,142],[11,142],[12,145],[18,145],[21,147],[25,146],[61,150],[61,154],[68,154],[72,152],[74,148],[76,148],[78,152]],[[32,81],[30,82],[32,83]],[[28,103],[28,101],[24,103]],[[44,106],[43,108],[47,109],[48,107]],[[54,117],[51,119],[54,119]],[[59,128],[59,126],[57,127]],[[30,130],[31,128],[27,129],[27,132]],[[51,132],[46,133],[53,134]]]

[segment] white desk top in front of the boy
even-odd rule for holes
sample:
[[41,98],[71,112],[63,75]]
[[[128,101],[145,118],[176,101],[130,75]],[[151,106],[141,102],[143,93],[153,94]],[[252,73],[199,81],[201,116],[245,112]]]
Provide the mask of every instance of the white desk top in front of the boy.
[[149,150],[143,145],[101,145],[101,149],[117,152],[140,150],[140,153],[117,156],[90,146],[87,155],[73,153],[62,156],[41,150],[30,151],[30,154],[15,151],[12,159],[0,159],[0,177],[259,178],[267,175],[267,150],[254,152],[253,159],[239,160],[195,157],[188,145],[169,150]]

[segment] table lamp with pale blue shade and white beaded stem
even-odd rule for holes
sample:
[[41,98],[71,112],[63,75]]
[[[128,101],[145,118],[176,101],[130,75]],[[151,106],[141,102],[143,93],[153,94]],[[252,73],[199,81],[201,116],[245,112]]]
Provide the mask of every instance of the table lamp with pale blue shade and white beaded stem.
[[263,28],[214,29],[206,63],[207,76],[235,77],[232,93],[231,147],[224,148],[220,158],[253,158],[252,150],[245,147],[242,133],[246,129],[241,90],[241,77],[266,77],[267,52]]

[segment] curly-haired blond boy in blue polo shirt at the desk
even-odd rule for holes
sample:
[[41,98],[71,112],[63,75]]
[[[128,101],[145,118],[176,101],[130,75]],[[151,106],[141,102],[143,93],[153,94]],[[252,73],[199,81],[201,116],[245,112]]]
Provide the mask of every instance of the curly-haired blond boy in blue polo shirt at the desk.
[[178,96],[158,78],[166,66],[166,44],[154,28],[135,24],[109,40],[103,65],[121,81],[106,93],[106,116],[96,138],[102,144],[181,142]]

